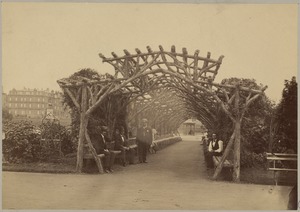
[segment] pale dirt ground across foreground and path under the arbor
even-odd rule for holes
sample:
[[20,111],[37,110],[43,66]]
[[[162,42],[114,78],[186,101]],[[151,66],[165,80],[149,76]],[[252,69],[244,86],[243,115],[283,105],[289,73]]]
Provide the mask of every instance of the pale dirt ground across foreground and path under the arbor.
[[211,181],[199,138],[112,174],[2,173],[3,209],[285,210],[289,186]]

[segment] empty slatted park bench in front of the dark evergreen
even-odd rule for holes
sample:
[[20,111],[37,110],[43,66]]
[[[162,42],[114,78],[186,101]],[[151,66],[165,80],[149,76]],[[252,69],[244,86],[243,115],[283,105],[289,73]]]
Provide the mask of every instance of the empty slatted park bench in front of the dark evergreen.
[[266,158],[268,163],[267,169],[274,172],[275,185],[278,184],[279,171],[297,172],[297,154],[267,152]]

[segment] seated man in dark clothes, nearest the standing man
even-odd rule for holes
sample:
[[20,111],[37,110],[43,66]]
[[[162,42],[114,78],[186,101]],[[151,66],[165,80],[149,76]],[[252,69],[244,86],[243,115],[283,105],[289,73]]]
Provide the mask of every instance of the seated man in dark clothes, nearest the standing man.
[[[123,127],[121,127],[121,132],[119,129],[116,129],[115,135],[115,150],[120,150],[121,151],[121,157],[122,157],[122,164],[123,166],[126,166],[126,155],[128,156],[129,159],[129,164],[133,164],[133,157],[134,157],[134,150],[130,149],[128,146],[127,139],[125,137],[125,130]],[[127,154],[126,154],[127,153]]]

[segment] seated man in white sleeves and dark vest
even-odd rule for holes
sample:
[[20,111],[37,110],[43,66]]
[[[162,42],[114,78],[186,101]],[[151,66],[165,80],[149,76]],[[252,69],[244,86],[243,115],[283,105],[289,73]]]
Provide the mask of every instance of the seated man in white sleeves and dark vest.
[[208,167],[214,167],[212,156],[221,156],[223,152],[223,141],[217,139],[215,133],[212,134],[212,139],[208,145],[208,158],[207,165]]

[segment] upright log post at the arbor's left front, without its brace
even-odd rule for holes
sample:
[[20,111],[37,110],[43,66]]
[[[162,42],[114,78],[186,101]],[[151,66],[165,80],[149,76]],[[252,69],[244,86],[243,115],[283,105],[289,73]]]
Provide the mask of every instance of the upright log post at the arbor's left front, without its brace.
[[85,141],[85,130],[88,124],[88,117],[86,116],[87,111],[87,87],[82,87],[82,98],[81,98],[81,108],[80,108],[80,128],[79,128],[79,141],[77,147],[77,162],[76,162],[76,172],[82,172],[83,166],[83,144]]

